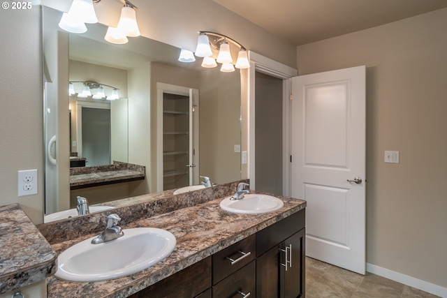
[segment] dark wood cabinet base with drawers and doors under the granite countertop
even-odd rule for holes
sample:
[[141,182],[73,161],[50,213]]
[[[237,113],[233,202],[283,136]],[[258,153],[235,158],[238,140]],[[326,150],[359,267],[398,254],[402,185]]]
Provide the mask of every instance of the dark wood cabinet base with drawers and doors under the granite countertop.
[[305,209],[132,298],[305,297]]

